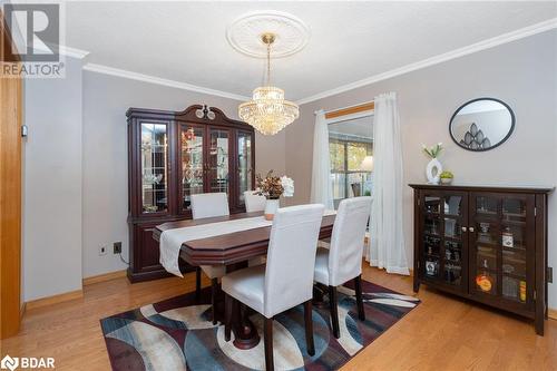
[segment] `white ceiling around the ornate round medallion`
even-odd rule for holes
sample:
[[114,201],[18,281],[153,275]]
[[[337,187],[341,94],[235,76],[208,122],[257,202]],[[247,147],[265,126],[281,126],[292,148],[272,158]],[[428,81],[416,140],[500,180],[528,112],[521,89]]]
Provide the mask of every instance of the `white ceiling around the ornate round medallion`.
[[255,10],[307,23],[299,53],[273,62],[300,100],[557,17],[557,2],[69,2],[66,45],[88,62],[250,96],[264,61],[235,51],[226,26]]

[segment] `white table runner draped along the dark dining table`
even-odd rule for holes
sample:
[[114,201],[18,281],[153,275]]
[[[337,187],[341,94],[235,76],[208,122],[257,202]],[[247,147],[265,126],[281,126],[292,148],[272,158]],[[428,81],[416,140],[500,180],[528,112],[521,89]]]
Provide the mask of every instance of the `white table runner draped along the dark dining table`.
[[[335,211],[325,211],[324,213],[324,215],[334,214],[336,214]],[[193,240],[215,237],[222,234],[266,227],[270,225],[273,225],[273,221],[266,221],[263,216],[256,216],[163,231],[159,243],[159,262],[167,272],[183,277],[178,266],[179,251],[183,243]]]

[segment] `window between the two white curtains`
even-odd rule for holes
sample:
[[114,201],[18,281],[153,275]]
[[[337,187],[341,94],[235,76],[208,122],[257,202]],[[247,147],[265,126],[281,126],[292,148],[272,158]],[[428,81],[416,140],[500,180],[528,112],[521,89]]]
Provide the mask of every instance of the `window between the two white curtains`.
[[373,155],[372,116],[329,124],[329,153],[333,179],[334,207],[343,198],[371,195],[372,176],[362,168]]

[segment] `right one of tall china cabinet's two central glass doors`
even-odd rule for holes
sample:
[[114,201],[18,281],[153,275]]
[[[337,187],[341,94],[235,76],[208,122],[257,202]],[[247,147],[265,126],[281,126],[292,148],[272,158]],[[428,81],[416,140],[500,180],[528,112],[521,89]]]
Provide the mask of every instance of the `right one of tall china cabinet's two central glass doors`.
[[207,182],[209,191],[228,194],[229,188],[229,152],[231,131],[227,129],[209,128]]

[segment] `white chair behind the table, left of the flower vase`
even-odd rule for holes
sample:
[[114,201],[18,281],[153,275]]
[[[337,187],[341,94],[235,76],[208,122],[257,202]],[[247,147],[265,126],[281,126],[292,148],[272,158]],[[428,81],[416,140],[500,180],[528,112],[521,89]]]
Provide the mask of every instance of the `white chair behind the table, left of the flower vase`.
[[[228,196],[226,193],[201,193],[192,195],[192,217],[199,219],[204,217],[226,216],[229,215]],[[224,265],[202,265],[195,270],[195,295],[201,296],[202,291],[202,271],[211,279],[211,304],[212,320],[216,324],[215,316],[215,299],[218,290],[218,279],[226,274]]]

